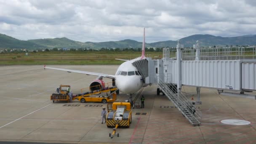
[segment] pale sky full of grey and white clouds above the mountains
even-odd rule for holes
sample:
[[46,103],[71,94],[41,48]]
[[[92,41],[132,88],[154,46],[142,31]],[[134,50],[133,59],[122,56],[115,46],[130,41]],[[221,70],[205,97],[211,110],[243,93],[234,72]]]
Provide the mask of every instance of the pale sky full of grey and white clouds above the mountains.
[[20,40],[178,40],[256,34],[256,0],[0,0],[0,33]]

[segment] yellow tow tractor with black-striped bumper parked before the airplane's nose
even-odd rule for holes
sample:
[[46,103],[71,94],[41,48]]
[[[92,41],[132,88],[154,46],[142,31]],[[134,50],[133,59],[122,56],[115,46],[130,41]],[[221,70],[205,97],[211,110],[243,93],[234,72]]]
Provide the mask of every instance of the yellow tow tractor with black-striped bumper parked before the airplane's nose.
[[107,127],[113,128],[109,137],[112,139],[116,134],[118,127],[129,128],[132,120],[131,104],[129,102],[113,102],[107,105]]

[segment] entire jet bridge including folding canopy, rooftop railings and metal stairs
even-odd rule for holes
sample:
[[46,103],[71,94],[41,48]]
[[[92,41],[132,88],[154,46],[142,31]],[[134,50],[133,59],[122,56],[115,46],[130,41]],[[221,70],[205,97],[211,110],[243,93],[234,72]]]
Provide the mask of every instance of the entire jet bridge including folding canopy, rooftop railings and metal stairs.
[[182,85],[197,88],[197,101],[200,101],[200,88],[256,98],[244,94],[256,91],[256,47],[205,49],[197,42],[195,49],[181,51],[178,41],[175,52],[163,49],[163,59],[147,58],[133,65],[143,73],[145,84],[157,84],[192,125],[200,125],[201,112],[181,92]]

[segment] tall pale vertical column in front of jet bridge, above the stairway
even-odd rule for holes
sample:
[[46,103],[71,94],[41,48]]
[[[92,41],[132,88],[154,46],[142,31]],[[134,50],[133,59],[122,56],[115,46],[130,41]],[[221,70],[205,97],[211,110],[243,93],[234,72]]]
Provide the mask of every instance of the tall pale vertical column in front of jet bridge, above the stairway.
[[178,40],[177,44],[177,74],[178,74],[178,81],[177,81],[177,90],[178,94],[181,91],[181,45]]

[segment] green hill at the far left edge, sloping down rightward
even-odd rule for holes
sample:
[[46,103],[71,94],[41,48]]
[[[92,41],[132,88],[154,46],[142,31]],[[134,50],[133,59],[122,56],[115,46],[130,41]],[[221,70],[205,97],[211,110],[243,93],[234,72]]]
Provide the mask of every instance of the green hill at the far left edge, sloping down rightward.
[[42,45],[0,34],[0,48],[40,48]]

